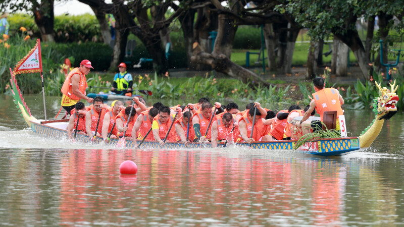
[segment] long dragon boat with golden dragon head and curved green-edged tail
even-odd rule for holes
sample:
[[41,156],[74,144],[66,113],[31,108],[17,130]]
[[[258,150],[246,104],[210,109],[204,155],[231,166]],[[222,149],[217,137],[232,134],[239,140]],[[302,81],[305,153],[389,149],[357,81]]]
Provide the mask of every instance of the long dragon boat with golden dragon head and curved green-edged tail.
[[[21,95],[20,89],[17,85],[17,81],[14,75],[11,76],[11,90],[14,97],[14,102],[16,107],[21,112],[21,116],[24,118],[27,125],[31,128],[32,132],[45,137],[50,138],[67,138],[67,126],[68,120],[52,120],[43,121],[37,120],[31,115],[31,111],[24,101]],[[303,152],[305,154],[321,155],[321,156],[333,156],[333,155],[344,155],[350,152],[355,152],[361,149],[368,148],[372,142],[379,135],[383,123],[385,120],[390,119],[396,112],[397,108],[395,104],[398,102],[398,96],[395,91],[398,85],[390,84],[391,89],[386,87],[381,87],[380,84],[376,86],[379,89],[380,97],[374,99],[373,111],[375,112],[375,119],[366,128],[362,134],[358,137],[339,137],[339,138],[328,138],[328,139],[316,139],[310,142],[306,142],[304,145],[297,149],[298,152]],[[298,129],[292,128],[293,133],[297,134]],[[296,133],[297,132],[297,133]],[[301,133],[301,131],[300,131]],[[294,135],[296,137],[296,135]],[[292,137],[292,138],[294,138]],[[90,138],[84,134],[77,134],[77,141],[90,142]],[[97,143],[102,143],[103,138],[97,137]],[[111,139],[112,144],[117,144],[118,139]],[[297,139],[294,140],[282,140],[282,141],[269,141],[269,142],[254,142],[248,143],[237,143],[236,146],[261,149],[261,150],[295,150]],[[207,148],[211,145],[201,144],[201,143],[188,143],[187,146],[182,142],[167,142],[164,147],[161,147],[156,141],[144,141],[142,144],[142,149],[195,149],[195,148]],[[224,144],[218,143],[219,147],[223,147]],[[126,139],[126,147],[132,148],[132,140]]]

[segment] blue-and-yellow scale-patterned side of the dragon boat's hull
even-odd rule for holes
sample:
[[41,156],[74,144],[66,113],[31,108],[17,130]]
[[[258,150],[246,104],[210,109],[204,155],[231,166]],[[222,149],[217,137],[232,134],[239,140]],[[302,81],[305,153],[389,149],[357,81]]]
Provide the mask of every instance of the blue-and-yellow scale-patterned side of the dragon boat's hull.
[[[50,137],[50,138],[67,138],[67,131],[56,127],[39,124],[37,122],[31,122],[31,130],[40,135]],[[77,134],[77,141],[84,143],[90,142],[90,138],[84,134]],[[96,142],[101,143],[103,139],[101,137],[96,138]],[[286,141],[271,141],[271,142],[255,142],[252,144],[248,143],[237,143],[237,146],[260,149],[260,150],[293,150],[296,145],[296,140],[286,140]],[[117,144],[118,139],[111,139],[111,144]],[[223,147],[222,144],[218,144],[219,147]],[[126,140],[126,147],[132,148],[132,140]],[[164,147],[160,146],[159,143],[155,141],[144,141],[142,144],[142,149],[194,149],[194,148],[209,148],[210,144],[201,143],[189,143],[185,146],[181,142],[167,142]],[[301,146],[297,151],[305,154],[321,155],[321,156],[333,156],[333,155],[343,155],[351,151],[359,150],[359,139],[358,137],[346,137],[346,138],[335,138],[335,139],[321,139],[317,141],[307,142]]]

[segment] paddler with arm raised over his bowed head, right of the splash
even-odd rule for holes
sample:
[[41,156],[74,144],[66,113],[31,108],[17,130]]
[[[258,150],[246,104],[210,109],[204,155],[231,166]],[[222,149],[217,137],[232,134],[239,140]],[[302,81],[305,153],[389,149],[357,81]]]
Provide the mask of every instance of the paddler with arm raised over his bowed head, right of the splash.
[[[256,120],[254,122],[254,132],[252,133],[252,137],[250,138],[252,121],[254,120],[254,111],[255,111],[254,107],[257,107]],[[240,137],[241,139],[244,140],[244,142],[252,143],[255,141],[259,141],[263,136],[265,136],[263,134],[264,123],[262,118],[265,118],[266,116],[267,111],[263,107],[261,107],[261,103],[254,102],[254,106],[250,107],[248,112],[240,118],[238,126],[240,131]]]

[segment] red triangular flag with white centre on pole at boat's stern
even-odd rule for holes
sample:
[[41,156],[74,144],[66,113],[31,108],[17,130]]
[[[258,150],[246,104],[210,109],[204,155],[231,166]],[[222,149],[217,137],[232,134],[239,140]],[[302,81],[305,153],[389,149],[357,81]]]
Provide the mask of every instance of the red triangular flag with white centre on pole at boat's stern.
[[37,39],[34,48],[32,48],[28,54],[17,63],[13,74],[40,72],[42,72],[41,43],[39,39]]

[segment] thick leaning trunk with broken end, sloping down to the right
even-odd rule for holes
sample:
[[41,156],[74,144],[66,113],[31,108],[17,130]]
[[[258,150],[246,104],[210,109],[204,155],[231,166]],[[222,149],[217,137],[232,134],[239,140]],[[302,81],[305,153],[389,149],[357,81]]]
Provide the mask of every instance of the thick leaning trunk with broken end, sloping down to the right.
[[251,85],[260,83],[263,86],[269,86],[270,83],[263,80],[257,74],[242,68],[241,66],[233,63],[227,58],[223,53],[207,53],[204,52],[203,49],[199,46],[197,42],[193,44],[193,56],[191,61],[195,64],[206,64],[210,65],[217,72],[224,73],[229,75],[237,80],[242,81],[243,83],[251,82]]

